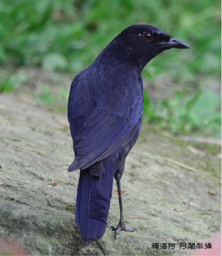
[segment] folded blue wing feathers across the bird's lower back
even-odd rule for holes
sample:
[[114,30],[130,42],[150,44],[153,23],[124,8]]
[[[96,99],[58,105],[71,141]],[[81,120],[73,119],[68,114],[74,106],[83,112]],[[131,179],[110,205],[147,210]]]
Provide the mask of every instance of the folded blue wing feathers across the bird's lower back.
[[133,137],[141,117],[143,100],[136,101],[125,115],[110,114],[98,105],[74,140],[75,159],[69,171],[87,168],[111,155]]

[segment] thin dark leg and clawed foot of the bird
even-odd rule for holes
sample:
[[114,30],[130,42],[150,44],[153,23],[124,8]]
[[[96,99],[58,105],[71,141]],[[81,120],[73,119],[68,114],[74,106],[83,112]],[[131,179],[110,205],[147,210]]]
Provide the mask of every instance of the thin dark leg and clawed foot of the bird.
[[119,222],[119,224],[117,225],[116,228],[114,226],[112,226],[110,229],[115,231],[115,239],[116,239],[116,235],[120,235],[121,230],[134,232],[134,231],[136,231],[136,229],[126,228],[126,225],[125,225],[125,222],[124,222],[124,219],[123,219],[122,196],[121,196],[121,185],[120,185],[121,175],[116,172],[114,177],[115,177],[115,180],[116,180],[118,195],[119,195],[120,222]]

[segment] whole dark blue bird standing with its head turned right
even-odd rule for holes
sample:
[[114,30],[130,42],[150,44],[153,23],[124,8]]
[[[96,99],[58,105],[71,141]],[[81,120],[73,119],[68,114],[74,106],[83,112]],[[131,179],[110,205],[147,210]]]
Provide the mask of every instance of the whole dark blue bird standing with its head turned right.
[[170,48],[189,47],[156,27],[134,25],[123,30],[74,78],[68,121],[75,159],[68,171],[81,170],[75,222],[87,241],[105,233],[114,178],[121,212],[119,224],[112,227],[115,238],[121,230],[135,230],[125,227],[120,180],[126,157],[141,131],[141,71]]

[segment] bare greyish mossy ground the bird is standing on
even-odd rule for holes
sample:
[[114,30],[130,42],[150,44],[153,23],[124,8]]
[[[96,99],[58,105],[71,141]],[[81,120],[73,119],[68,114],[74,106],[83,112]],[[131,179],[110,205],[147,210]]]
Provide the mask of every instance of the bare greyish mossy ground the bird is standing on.
[[[114,240],[107,228],[87,243],[74,222],[79,171],[67,172],[74,158],[67,116],[28,94],[0,94],[1,239],[31,255],[183,255],[191,249],[180,243],[211,243],[221,230],[220,147],[209,153],[209,145],[143,130],[121,181],[126,225],[137,233]],[[109,226],[119,222],[116,190]]]

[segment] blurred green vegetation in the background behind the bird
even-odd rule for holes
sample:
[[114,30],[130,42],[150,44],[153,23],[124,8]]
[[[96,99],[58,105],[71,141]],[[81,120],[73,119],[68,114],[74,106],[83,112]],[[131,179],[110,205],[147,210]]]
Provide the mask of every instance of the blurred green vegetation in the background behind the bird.
[[[135,23],[153,25],[187,42],[190,50],[173,49],[144,68],[144,82],[167,74],[181,87],[173,98],[158,101],[152,88],[146,88],[147,121],[172,132],[220,133],[221,96],[215,94],[215,85],[221,83],[221,1],[2,0],[0,17],[2,67],[41,66],[73,77]],[[10,78],[1,80],[0,93],[13,90]],[[55,97],[44,90],[39,100],[67,103],[65,89]]]

